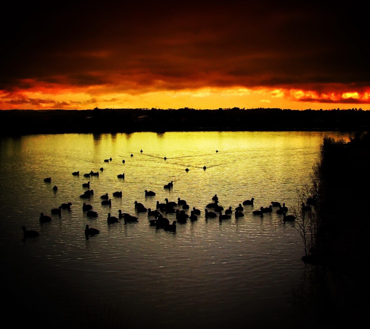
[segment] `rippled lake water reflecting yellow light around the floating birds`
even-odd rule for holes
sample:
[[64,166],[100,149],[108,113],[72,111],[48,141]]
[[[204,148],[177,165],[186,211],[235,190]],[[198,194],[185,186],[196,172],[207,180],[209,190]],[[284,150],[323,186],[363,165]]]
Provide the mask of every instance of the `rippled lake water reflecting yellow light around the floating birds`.
[[[172,132],[3,138],[3,319],[9,326],[35,320],[41,327],[61,328],[87,328],[95,316],[99,323],[115,322],[114,315],[121,316],[124,328],[335,328],[353,311],[353,286],[340,273],[305,266],[298,232],[282,224],[275,211],[252,215],[271,201],[297,206],[296,190],[309,182],[323,136]],[[99,177],[83,177],[100,167]],[[124,180],[117,178],[122,172]],[[46,177],[51,183],[43,182]],[[163,189],[171,180],[173,189]],[[86,201],[79,195],[87,181],[95,193]],[[145,198],[145,189],[157,195]],[[122,191],[122,198],[112,197],[115,191]],[[111,207],[100,204],[105,193]],[[244,207],[244,218],[205,220],[205,205],[214,194],[225,209],[252,197],[255,205]],[[202,214],[198,221],[178,224],[175,233],[149,226],[147,214],[136,214],[138,223],[107,224],[108,212],[135,215],[135,200],[155,209],[157,200],[178,197]],[[97,219],[86,217],[84,201],[94,206]],[[63,202],[72,202],[71,211],[51,215]],[[53,220],[40,224],[40,212]],[[100,234],[86,239],[86,224]],[[22,225],[40,236],[23,239]]]

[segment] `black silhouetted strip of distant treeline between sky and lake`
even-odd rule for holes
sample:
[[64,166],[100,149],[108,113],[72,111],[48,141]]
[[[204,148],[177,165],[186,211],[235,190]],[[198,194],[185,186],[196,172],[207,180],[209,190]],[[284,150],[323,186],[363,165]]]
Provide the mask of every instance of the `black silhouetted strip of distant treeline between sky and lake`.
[[2,110],[0,122],[1,135],[199,130],[364,131],[370,127],[370,111],[280,108]]

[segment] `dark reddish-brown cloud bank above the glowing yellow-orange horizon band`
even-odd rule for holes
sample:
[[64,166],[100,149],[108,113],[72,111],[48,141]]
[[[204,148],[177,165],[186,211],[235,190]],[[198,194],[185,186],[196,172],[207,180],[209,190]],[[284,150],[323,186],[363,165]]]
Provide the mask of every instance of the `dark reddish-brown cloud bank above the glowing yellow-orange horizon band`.
[[310,85],[320,93],[334,84],[370,86],[369,27],[357,1],[7,6],[1,90],[40,83],[109,85],[129,93],[234,85]]

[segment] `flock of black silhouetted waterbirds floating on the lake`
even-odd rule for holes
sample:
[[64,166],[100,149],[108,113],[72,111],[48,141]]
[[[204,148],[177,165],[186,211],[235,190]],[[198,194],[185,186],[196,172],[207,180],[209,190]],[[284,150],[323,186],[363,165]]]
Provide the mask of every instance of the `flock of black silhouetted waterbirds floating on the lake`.
[[[140,151],[142,152],[142,150]],[[216,151],[218,152],[218,151]],[[131,154],[131,157],[133,155]],[[104,162],[110,162],[112,161],[112,158],[104,160]],[[124,163],[125,160],[122,160]],[[206,169],[204,166],[203,169]],[[102,172],[104,168],[100,168],[100,171]],[[186,168],[186,171],[189,169]],[[75,171],[72,173],[72,175],[78,176],[80,175],[79,171]],[[99,176],[99,172],[93,172],[91,171],[89,174],[84,174],[84,177],[90,177],[90,176]],[[118,178],[125,178],[125,174],[119,174],[117,175]],[[45,178],[44,182],[51,182],[51,177]],[[173,181],[169,182],[168,184],[164,185],[164,189],[171,190],[174,186]],[[94,190],[90,189],[90,181],[87,183],[82,184],[83,188],[88,188],[86,191],[84,191],[83,194],[80,195],[80,198],[82,199],[90,199],[92,195],[94,195]],[[58,187],[54,185],[53,190],[57,191]],[[156,194],[153,191],[145,190],[145,197],[154,197]],[[114,197],[120,197],[122,198],[122,191],[116,191],[112,194]],[[107,205],[111,206],[112,200],[109,198],[108,193],[101,195],[101,205]],[[165,231],[176,231],[176,224],[177,223],[186,223],[188,220],[190,221],[196,221],[198,220],[198,216],[201,215],[201,211],[199,209],[196,209],[195,207],[192,207],[192,210],[190,212],[190,215],[186,213],[190,209],[189,205],[185,200],[182,200],[180,198],[177,199],[177,202],[175,201],[169,201],[168,198],[164,199],[165,203],[160,203],[157,201],[156,209],[152,210],[151,208],[146,208],[142,203],[139,203],[137,201],[134,202],[135,205],[135,211],[137,213],[147,213],[149,224],[152,226],[156,226],[156,228],[162,228]],[[307,203],[308,204],[314,204],[314,198],[308,198]],[[62,209],[71,210],[71,202],[63,203],[58,208],[51,209],[52,215],[59,215],[62,214]],[[204,209],[205,213],[205,219],[211,219],[211,218],[218,218],[219,221],[231,219],[232,215],[235,216],[236,219],[244,216],[244,207],[243,206],[251,206],[254,205],[254,198],[251,198],[249,200],[245,200],[242,203],[238,205],[234,210],[230,206],[228,209],[225,210],[224,214],[222,214],[222,211],[224,210],[221,205],[219,205],[217,194],[215,194],[212,197],[212,202],[207,204]],[[311,211],[310,205],[305,205],[302,203],[302,211]],[[296,220],[296,217],[293,215],[287,215],[286,212],[288,212],[288,208],[285,206],[285,203],[282,205],[280,202],[272,201],[271,204],[268,207],[260,207],[259,210],[254,210],[252,212],[253,215],[261,216],[263,217],[264,214],[268,214],[273,212],[273,208],[278,208],[276,210],[276,214],[283,215],[283,222],[294,222]],[[82,207],[83,212],[85,212],[87,217],[90,218],[97,218],[98,213],[93,210],[93,206],[90,204],[83,203]],[[213,211],[212,211],[213,210]],[[170,221],[168,218],[164,217],[164,215],[168,214],[174,214],[176,216],[176,221],[172,221],[172,224],[170,224]],[[111,213],[108,213],[107,217],[107,223],[112,224],[120,221],[121,219],[124,220],[125,223],[135,223],[138,222],[138,218],[136,216],[132,216],[128,213],[124,213],[120,210],[118,210],[118,217],[112,216]],[[42,212],[40,214],[40,223],[47,223],[51,222],[51,217],[44,215]],[[22,226],[21,228],[23,230],[23,234],[25,238],[33,238],[39,235],[37,231],[34,230],[28,230]],[[85,226],[85,236],[88,238],[88,236],[99,234],[100,231],[95,228],[90,228],[89,225]]]

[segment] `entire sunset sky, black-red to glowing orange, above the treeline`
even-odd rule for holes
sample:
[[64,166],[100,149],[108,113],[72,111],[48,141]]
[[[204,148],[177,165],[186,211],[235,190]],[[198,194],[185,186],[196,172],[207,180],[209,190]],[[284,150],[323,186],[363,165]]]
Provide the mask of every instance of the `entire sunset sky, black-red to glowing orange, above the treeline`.
[[360,2],[2,5],[0,109],[370,109]]

